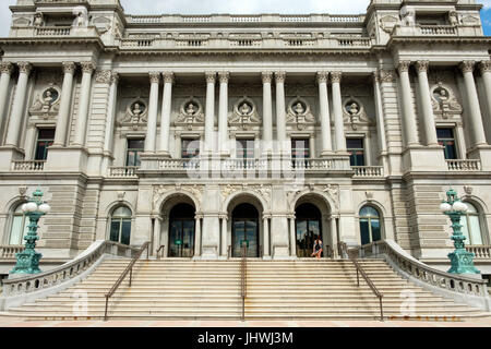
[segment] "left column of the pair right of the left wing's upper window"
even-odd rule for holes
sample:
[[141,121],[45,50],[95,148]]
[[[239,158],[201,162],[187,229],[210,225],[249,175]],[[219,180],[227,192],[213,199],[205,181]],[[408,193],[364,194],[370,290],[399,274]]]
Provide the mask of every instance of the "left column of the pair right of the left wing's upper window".
[[74,62],[63,62],[63,86],[61,89],[60,111],[58,113],[57,130],[55,132],[55,146],[65,146],[68,125],[70,123],[70,107],[72,106]]

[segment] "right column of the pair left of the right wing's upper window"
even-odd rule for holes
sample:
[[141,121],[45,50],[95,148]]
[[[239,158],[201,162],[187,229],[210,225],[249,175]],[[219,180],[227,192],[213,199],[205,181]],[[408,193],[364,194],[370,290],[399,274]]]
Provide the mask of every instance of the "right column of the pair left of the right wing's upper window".
[[431,105],[431,92],[428,83],[429,61],[418,61],[416,69],[418,71],[419,93],[421,98],[424,136],[427,145],[438,145],[436,125],[434,123],[433,106]]

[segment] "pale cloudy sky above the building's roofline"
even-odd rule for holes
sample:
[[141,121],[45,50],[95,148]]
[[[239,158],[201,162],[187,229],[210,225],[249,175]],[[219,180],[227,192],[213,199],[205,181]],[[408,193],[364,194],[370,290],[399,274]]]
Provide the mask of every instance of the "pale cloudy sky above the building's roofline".
[[[0,37],[9,35],[9,5],[16,0],[0,0]],[[491,36],[491,0],[478,0],[484,34]],[[364,13],[370,0],[121,0],[131,14],[203,13]]]

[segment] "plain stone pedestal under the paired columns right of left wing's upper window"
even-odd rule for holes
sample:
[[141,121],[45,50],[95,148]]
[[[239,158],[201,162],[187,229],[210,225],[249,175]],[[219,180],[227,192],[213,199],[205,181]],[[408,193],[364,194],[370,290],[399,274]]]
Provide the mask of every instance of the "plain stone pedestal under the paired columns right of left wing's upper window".
[[85,147],[56,147],[48,152],[48,160],[45,166],[46,171],[59,172],[86,172],[88,163],[88,152]]

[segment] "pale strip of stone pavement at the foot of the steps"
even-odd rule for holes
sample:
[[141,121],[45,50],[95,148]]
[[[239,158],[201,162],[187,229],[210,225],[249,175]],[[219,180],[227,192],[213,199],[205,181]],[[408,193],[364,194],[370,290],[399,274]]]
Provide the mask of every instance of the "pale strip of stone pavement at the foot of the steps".
[[457,321],[23,321],[0,317],[0,327],[489,327],[491,317]]

